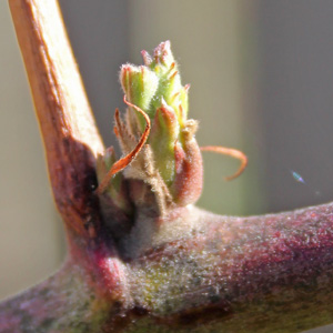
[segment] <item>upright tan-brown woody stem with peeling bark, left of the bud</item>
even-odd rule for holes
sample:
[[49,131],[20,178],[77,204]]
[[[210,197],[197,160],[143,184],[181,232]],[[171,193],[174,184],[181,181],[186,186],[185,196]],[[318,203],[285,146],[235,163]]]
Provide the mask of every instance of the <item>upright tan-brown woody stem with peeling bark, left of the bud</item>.
[[[9,0],[42,132],[54,199],[67,225],[98,224],[94,159],[103,152],[56,0]],[[94,219],[93,219],[94,216]]]

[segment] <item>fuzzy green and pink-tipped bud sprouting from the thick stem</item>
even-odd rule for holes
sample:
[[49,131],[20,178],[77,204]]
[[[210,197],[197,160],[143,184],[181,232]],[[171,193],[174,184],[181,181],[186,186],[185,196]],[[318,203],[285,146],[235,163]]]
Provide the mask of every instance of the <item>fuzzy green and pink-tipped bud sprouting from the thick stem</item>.
[[[125,157],[112,169],[123,170],[135,205],[155,205],[164,214],[169,208],[193,203],[200,196],[202,159],[194,138],[198,123],[188,120],[190,85],[181,84],[170,42],[162,42],[152,57],[142,51],[142,57],[144,65],[121,67],[128,111],[124,120],[117,113],[115,133]],[[104,160],[104,164],[110,169],[112,162]],[[128,209],[123,196],[118,198],[119,188],[112,189],[119,186],[115,178],[109,179],[108,186],[103,180],[102,191],[117,206]]]

